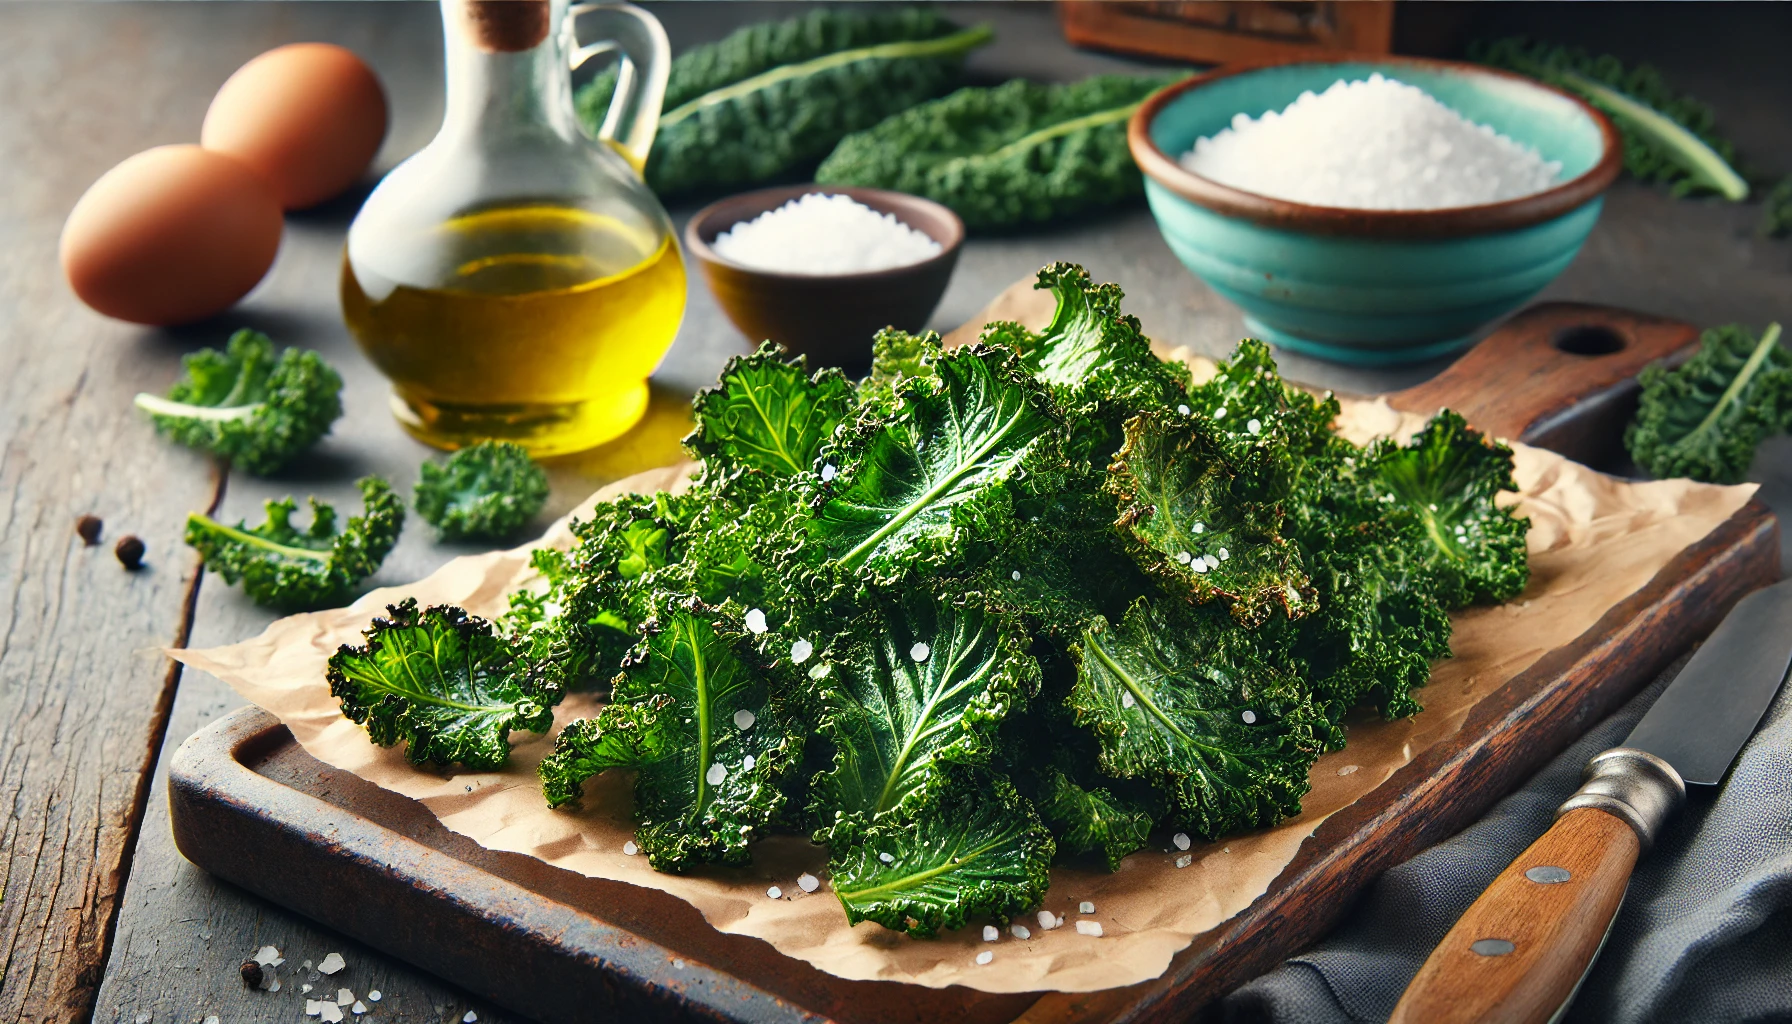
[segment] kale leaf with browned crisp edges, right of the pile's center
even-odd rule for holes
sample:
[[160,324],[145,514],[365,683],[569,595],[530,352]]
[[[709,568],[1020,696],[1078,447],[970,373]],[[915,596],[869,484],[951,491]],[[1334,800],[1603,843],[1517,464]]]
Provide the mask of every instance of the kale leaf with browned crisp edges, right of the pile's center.
[[1281,533],[1274,481],[1287,450],[1238,452],[1222,430],[1193,416],[1127,420],[1106,484],[1120,499],[1116,525],[1140,565],[1188,599],[1220,597],[1245,626],[1276,606],[1299,619],[1315,599],[1299,549]]

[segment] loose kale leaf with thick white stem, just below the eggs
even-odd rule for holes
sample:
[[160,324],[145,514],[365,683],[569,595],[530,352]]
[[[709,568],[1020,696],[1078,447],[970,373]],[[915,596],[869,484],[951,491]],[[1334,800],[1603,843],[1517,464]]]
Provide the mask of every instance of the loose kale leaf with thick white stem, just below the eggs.
[[285,466],[342,416],[342,378],[321,355],[289,348],[276,357],[272,339],[254,330],[181,364],[186,377],[167,398],[138,395],[136,407],[161,434],[251,473]]

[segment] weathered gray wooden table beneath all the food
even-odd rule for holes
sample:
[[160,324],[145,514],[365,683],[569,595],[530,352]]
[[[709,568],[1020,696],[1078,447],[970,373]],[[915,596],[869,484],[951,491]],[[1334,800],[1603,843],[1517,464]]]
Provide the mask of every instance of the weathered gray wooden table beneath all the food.
[[[1792,75],[1783,43],[1792,9],[1636,11],[1478,7],[1468,29],[1530,29],[1659,63],[1710,100],[1760,163],[1792,169]],[[780,5],[659,7],[676,45],[713,39]],[[1129,61],[1070,50],[1050,9],[962,11],[996,22],[998,45],[973,57],[977,75],[1073,79]],[[1455,25],[1464,30],[1464,25]],[[181,545],[190,509],[258,515],[269,497],[315,493],[351,502],[351,481],[383,473],[401,486],[428,454],[385,411],[385,386],[358,355],[337,312],[342,231],[364,192],[289,217],[269,280],[237,310],[181,330],[145,330],[81,307],[57,273],[63,217],[108,167],[140,149],[190,142],[215,88],[251,56],[296,39],[328,39],[366,56],[385,79],[392,129],[380,169],[428,140],[441,117],[441,34],[434,4],[5,4],[0,5],[0,1019],[72,1022],[90,1015],[149,1024],[206,1017],[289,1020],[292,988],[249,992],[237,963],[263,943],[294,959],[340,952],[349,967],[332,992],[383,992],[376,1020],[480,1020],[505,1015],[453,985],[326,933],[217,882],[176,854],[167,821],[165,753],[240,701],[220,683],[183,674],[158,651],[226,644],[272,617],[202,577]],[[1751,70],[1754,68],[1754,70]],[[674,210],[688,215],[690,208]],[[1765,323],[1792,316],[1792,244],[1751,237],[1754,210],[1670,201],[1620,183],[1579,262],[1548,298],[1661,312],[1695,323]],[[1129,292],[1154,335],[1224,351],[1238,312],[1170,256],[1142,206],[1045,233],[978,239],[935,314],[953,326],[1041,264],[1070,258]],[[159,391],[179,357],[219,344],[237,326],[321,350],[348,380],[335,434],[278,479],[220,473],[159,441],[131,409]],[[677,456],[685,398],[745,350],[694,280],[677,344],[656,377],[649,423],[633,436],[552,466],[559,515],[599,484]],[[1380,391],[1437,364],[1351,371],[1288,359],[1290,377]],[[1792,441],[1754,466],[1769,504],[1792,509]],[[82,547],[73,520],[106,520],[102,547]],[[149,565],[125,574],[111,543],[136,533]],[[419,577],[466,549],[405,534],[378,583]],[[319,983],[323,988],[323,983]],[[215,1017],[213,1017],[215,1015]]]

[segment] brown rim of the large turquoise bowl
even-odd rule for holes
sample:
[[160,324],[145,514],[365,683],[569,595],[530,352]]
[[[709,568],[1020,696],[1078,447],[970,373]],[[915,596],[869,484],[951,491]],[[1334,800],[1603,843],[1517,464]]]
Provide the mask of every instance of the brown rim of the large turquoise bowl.
[[[1150,138],[1150,122],[1156,120],[1158,113],[1165,106],[1174,102],[1183,93],[1219,79],[1247,75],[1265,68],[1281,68],[1288,65],[1407,65],[1512,79],[1530,88],[1555,93],[1579,106],[1590,118],[1593,118],[1593,124],[1598,126],[1606,147],[1598,163],[1584,174],[1532,195],[1520,195],[1518,199],[1505,199],[1502,203],[1484,203],[1480,206],[1448,206],[1444,210],[1355,210],[1348,206],[1310,206],[1306,203],[1290,203],[1288,199],[1274,199],[1271,195],[1258,195],[1256,192],[1233,188],[1231,185],[1220,185],[1211,178],[1202,178],[1193,170],[1188,170],[1174,158],[1167,156]],[[1133,111],[1133,117],[1127,122],[1125,136],[1127,147],[1133,151],[1133,160],[1138,161],[1140,170],[1183,199],[1228,217],[1240,217],[1269,228],[1317,235],[1437,239],[1512,231],[1516,228],[1541,224],[1543,221],[1561,217],[1563,213],[1582,206],[1611,187],[1611,183],[1618,178],[1618,170],[1624,169],[1624,145],[1618,142],[1618,129],[1611,126],[1611,118],[1581,97],[1500,68],[1487,68],[1464,61],[1434,61],[1426,57],[1357,56],[1324,61],[1296,57],[1288,61],[1263,61],[1247,66],[1208,72],[1204,75],[1176,82],[1174,86],[1167,86],[1147,97],[1145,102]]]

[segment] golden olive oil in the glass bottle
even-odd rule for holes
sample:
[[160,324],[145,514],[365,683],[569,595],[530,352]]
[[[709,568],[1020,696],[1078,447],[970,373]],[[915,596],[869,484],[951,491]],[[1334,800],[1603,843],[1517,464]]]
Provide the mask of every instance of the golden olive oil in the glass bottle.
[[668,233],[554,204],[480,210],[434,231],[407,246],[428,265],[401,260],[396,280],[376,246],[342,267],[342,312],[392,380],[407,430],[437,447],[500,438],[552,456],[640,420],[647,375],[685,314]]

